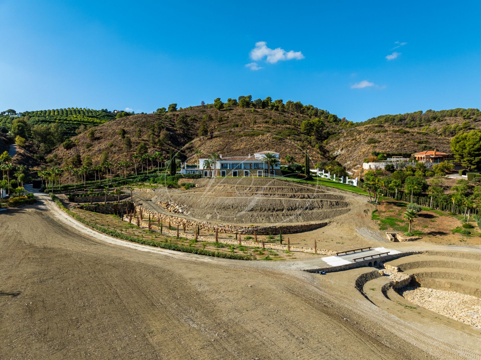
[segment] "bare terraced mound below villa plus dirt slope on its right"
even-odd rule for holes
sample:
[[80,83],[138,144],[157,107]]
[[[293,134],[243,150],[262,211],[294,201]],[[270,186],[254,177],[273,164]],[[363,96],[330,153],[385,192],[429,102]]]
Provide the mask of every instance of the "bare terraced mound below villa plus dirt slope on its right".
[[389,242],[371,220],[375,207],[364,196],[277,179],[188,180],[198,187],[136,193],[134,200],[163,213],[168,212],[157,202],[173,201],[185,207],[187,213],[181,216],[196,221],[244,225],[329,221],[316,230],[284,235],[291,245],[305,248],[314,248],[314,240],[317,248],[334,251]]

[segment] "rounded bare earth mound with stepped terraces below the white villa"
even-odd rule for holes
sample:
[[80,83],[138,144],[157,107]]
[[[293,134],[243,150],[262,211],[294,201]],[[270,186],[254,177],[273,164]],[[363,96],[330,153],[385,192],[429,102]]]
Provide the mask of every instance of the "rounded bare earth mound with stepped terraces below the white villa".
[[196,187],[161,191],[156,204],[169,199],[192,219],[219,223],[307,223],[333,219],[350,210],[350,201],[321,186],[276,179],[196,179]]

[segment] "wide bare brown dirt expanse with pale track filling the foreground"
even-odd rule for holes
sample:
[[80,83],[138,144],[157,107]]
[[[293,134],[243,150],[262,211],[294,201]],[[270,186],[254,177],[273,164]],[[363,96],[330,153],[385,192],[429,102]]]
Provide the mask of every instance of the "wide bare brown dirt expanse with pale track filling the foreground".
[[49,200],[0,216],[0,359],[480,355],[476,342],[453,341],[462,333],[418,329],[336,275],[139,251],[83,229]]

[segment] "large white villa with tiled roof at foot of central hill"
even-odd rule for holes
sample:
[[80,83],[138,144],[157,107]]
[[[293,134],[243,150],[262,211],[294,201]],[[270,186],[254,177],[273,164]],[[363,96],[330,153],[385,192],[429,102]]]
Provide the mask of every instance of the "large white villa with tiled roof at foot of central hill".
[[254,156],[229,156],[222,157],[215,162],[214,166],[210,169],[204,169],[203,163],[207,158],[199,159],[198,164],[187,165],[187,161],[184,162],[180,169],[180,174],[202,174],[204,177],[249,177],[249,176],[282,176],[280,172],[280,163],[276,166],[270,165],[268,169],[267,161],[265,161],[264,155],[267,153],[273,154],[279,159],[279,153],[274,151],[260,151],[254,153]]

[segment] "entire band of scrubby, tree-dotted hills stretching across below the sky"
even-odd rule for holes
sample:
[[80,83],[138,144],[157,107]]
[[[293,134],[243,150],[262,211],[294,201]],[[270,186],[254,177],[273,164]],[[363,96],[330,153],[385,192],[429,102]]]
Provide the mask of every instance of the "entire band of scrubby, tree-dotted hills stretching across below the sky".
[[66,108],[22,115],[0,113],[0,130],[10,131],[12,140],[25,138],[25,147],[38,164],[49,165],[69,163],[74,156],[100,163],[157,151],[166,158],[174,148],[182,160],[195,149],[223,156],[270,149],[297,162],[303,162],[307,150],[313,164],[339,161],[350,168],[376,153],[408,155],[427,149],[449,153],[452,137],[481,127],[478,109],[381,115],[353,123],[299,101],[251,96],[226,102],[218,98],[184,109],[171,104],[152,114]]

